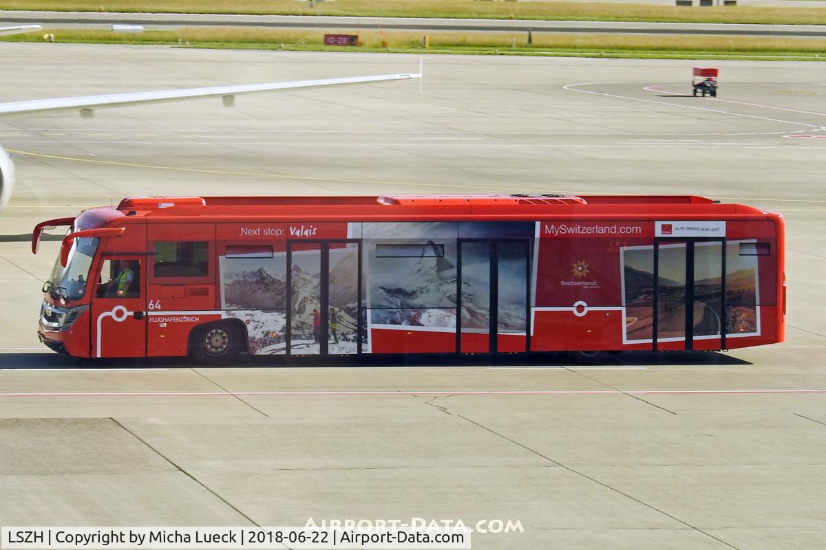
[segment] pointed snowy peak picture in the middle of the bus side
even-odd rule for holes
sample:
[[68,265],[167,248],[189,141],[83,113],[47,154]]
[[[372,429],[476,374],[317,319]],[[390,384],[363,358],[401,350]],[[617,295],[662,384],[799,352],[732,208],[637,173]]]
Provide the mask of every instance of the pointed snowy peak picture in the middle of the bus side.
[[[532,222],[375,222],[362,224],[368,308],[374,324],[456,327],[458,238],[524,238],[499,246],[499,331],[525,331],[525,284]],[[419,245],[413,257],[376,257],[377,244]],[[433,254],[436,250],[443,254]],[[463,242],[462,326],[490,326],[490,245]]]

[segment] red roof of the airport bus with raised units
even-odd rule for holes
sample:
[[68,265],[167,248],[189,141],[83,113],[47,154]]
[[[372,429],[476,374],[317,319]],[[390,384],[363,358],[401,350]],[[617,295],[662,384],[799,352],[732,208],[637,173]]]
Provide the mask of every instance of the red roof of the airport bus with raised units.
[[[84,211],[84,227],[204,219],[605,219],[720,218],[776,215],[767,210],[695,195],[382,195],[133,197],[115,208]],[[79,221],[79,220],[78,220]]]

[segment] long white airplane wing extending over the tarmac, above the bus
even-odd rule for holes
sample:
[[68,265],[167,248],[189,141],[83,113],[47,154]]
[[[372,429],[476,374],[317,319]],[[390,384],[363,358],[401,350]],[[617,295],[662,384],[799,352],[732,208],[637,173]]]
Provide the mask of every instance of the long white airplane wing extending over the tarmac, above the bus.
[[104,94],[102,96],[59,97],[56,99],[35,99],[29,101],[12,101],[0,103],[0,115],[25,115],[56,110],[80,110],[81,115],[91,116],[93,110],[107,107],[161,103],[201,97],[221,96],[225,106],[232,106],[235,96],[256,92],[275,92],[279,90],[301,90],[306,88],[347,86],[350,84],[370,84],[420,78],[420,74],[379,74],[368,77],[320,78],[317,80],[296,80],[291,82],[270,82],[265,84],[239,84],[231,86],[214,86],[203,88],[184,88],[180,90],[160,90],[158,92],[128,92]]

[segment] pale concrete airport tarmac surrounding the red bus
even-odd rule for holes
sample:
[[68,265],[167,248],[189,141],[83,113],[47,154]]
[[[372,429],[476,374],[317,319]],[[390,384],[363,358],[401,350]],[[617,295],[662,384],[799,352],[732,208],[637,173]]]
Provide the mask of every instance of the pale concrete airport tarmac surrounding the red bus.
[[[0,101],[413,72],[419,59],[3,44]],[[820,63],[434,55],[425,80],[0,121],[0,525],[520,521],[472,548],[826,545]],[[35,223],[125,195],[695,194],[786,216],[786,342],[579,364],[74,364]]]

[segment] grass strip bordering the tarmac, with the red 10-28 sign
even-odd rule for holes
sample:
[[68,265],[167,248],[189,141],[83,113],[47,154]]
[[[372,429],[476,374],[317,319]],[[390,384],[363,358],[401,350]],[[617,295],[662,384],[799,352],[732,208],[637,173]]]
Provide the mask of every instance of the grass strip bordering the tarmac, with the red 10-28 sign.
[[[294,51],[369,51],[396,53],[520,54],[596,57],[695,58],[713,56],[761,59],[826,59],[826,38],[777,38],[719,35],[610,35],[577,33],[433,32],[422,45],[423,34],[412,31],[361,31],[360,46],[326,46],[325,32],[281,31],[259,27],[188,27],[178,31],[139,34],[112,31],[55,29],[56,42],[123,45],[188,45],[224,49],[286,49]],[[0,36],[8,42],[42,41],[41,33]]]

